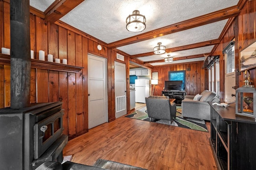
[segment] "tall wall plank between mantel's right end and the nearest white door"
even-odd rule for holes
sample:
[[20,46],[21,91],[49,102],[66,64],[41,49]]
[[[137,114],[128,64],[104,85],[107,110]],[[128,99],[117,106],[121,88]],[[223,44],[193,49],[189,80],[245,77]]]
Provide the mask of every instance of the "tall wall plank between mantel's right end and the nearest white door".
[[84,132],[88,132],[88,39],[82,37]]

